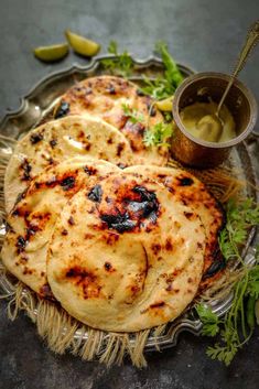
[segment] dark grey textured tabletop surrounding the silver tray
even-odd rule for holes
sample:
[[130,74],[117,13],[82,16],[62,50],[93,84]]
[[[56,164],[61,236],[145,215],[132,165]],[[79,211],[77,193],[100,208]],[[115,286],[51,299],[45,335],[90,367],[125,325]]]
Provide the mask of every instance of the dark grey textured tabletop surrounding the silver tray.
[[[247,26],[259,15],[255,0],[0,0],[0,116],[19,107],[19,96],[45,75],[87,63],[71,54],[64,62],[44,65],[31,54],[41,44],[63,41],[66,28],[107,46],[115,39],[139,57],[148,56],[157,40],[170,44],[179,62],[197,71],[228,72]],[[102,48],[105,52],[105,48]],[[259,97],[259,50],[240,76]],[[23,314],[7,320],[0,305],[0,389],[256,389],[259,382],[257,329],[229,368],[205,355],[209,339],[182,334],[179,345],[148,356],[149,367],[129,361],[107,370],[98,363],[55,356]]]

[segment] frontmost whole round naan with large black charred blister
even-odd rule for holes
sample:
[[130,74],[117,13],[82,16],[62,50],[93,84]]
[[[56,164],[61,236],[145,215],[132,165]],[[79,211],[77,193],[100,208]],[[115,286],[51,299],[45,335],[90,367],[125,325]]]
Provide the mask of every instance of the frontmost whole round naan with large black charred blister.
[[48,246],[47,279],[80,322],[140,331],[175,318],[193,300],[205,241],[193,208],[162,184],[121,171],[67,202]]

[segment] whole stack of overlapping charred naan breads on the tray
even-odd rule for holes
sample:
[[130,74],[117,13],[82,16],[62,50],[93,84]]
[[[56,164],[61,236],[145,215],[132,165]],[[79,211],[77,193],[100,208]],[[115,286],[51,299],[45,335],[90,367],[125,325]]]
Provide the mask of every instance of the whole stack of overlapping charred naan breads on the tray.
[[17,143],[7,168],[3,263],[95,328],[172,321],[222,266],[216,199],[191,173],[165,168],[165,149],[143,144],[147,126],[162,120],[137,85],[88,78]]

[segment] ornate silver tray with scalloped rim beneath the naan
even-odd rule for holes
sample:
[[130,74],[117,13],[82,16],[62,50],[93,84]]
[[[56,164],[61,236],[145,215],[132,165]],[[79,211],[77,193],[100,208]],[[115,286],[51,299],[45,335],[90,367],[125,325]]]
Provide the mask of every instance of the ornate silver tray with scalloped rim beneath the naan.
[[[112,58],[110,55],[99,56],[85,67],[74,65],[65,71],[54,73],[42,79],[36,86],[33,87],[33,89],[31,89],[31,91],[25,97],[21,99],[21,106],[18,110],[11,111],[3,117],[0,122],[0,132],[7,137],[19,139],[22,133],[37,126],[44,119],[44,117],[47,116],[55,101],[63,93],[65,93],[68,87],[86,77],[96,76],[104,73],[107,74],[100,64],[100,61],[107,57]],[[143,74],[149,75],[149,77],[152,78],[160,75],[163,71],[163,64],[161,60],[154,56],[143,61],[133,60],[133,63],[134,72],[130,79],[137,83],[141,82]],[[179,67],[185,76],[194,73],[187,66],[180,64]],[[2,145],[2,149],[3,148],[4,145]],[[8,145],[6,145],[4,151],[10,153]],[[259,136],[252,133],[248,140],[233,149],[228,161],[228,165],[230,165],[230,168],[235,168],[235,170],[238,171],[238,177],[240,180],[247,180],[252,184],[247,185],[244,188],[244,194],[245,196],[253,197],[255,201],[258,201],[257,192],[255,190],[259,177],[258,155]],[[4,235],[3,225],[0,228],[0,235]],[[256,229],[253,228],[249,234],[249,238],[242,253],[247,262],[255,260],[255,247],[257,246],[259,236],[256,234]],[[11,284],[4,282],[4,280],[0,278],[0,289],[3,291],[7,299],[11,298],[13,294],[11,287]],[[26,288],[24,288],[23,293],[28,293]],[[230,293],[227,299],[216,301],[211,306],[218,316],[222,316],[230,307],[231,299],[233,295]],[[34,311],[34,314],[37,314],[36,310]],[[151,352],[158,349],[158,347],[160,349],[172,347],[176,345],[180,333],[187,331],[198,335],[201,329],[201,321],[197,320],[193,310],[188,310],[180,318],[169,323],[163,335],[159,337],[157,336],[154,339],[151,332],[151,335],[149,336],[145,345],[145,350]],[[82,338],[82,332],[78,331],[75,334],[75,337]],[[107,337],[109,337],[109,334],[107,334]],[[87,338],[87,333],[83,335],[83,338]],[[132,342],[134,342],[133,338]]]

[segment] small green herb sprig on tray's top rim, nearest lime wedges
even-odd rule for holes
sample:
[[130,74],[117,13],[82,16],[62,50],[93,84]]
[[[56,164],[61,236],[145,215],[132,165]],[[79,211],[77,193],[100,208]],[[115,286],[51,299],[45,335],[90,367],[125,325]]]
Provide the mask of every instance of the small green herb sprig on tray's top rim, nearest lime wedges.
[[117,42],[110,41],[108,53],[116,55],[115,58],[101,60],[102,66],[111,74],[128,77],[133,69],[133,61],[127,51],[118,52]]

